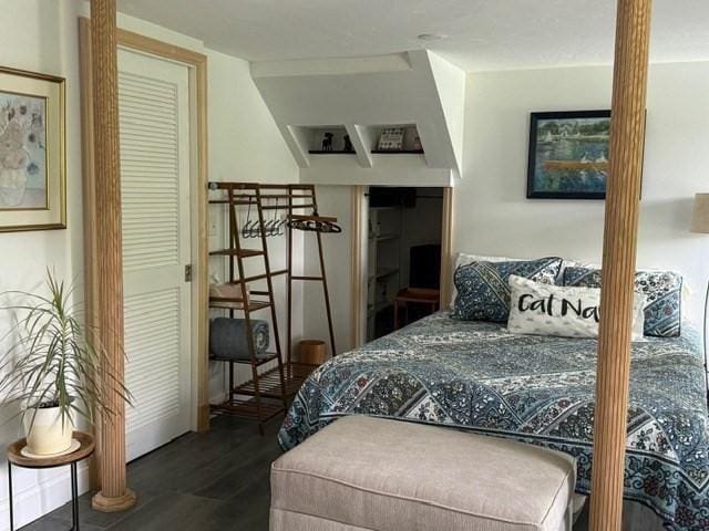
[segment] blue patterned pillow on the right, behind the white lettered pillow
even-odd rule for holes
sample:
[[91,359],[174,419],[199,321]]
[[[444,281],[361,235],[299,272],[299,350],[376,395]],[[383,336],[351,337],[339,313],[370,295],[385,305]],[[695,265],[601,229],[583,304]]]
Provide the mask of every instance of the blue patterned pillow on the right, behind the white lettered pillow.
[[[600,270],[566,268],[564,285],[600,288]],[[638,271],[635,291],[646,298],[645,335],[677,337],[681,333],[682,278],[671,271]]]

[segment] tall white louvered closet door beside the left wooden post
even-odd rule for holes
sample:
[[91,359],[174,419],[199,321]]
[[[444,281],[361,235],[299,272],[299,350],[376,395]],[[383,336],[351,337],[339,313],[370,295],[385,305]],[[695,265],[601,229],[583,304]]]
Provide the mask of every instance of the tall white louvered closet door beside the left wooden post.
[[127,458],[189,430],[189,77],[119,51]]

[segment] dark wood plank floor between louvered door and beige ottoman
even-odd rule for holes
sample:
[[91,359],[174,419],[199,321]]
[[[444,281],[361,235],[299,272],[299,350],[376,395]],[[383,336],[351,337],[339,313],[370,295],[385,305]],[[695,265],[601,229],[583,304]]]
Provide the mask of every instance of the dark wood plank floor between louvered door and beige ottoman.
[[[81,498],[82,531],[266,531],[270,464],[281,454],[280,420],[260,437],[253,423],[213,419],[206,434],[187,434],[129,465],[129,485],[137,493],[130,511],[106,514]],[[585,516],[574,527],[586,531]],[[22,528],[65,531],[69,504]]]

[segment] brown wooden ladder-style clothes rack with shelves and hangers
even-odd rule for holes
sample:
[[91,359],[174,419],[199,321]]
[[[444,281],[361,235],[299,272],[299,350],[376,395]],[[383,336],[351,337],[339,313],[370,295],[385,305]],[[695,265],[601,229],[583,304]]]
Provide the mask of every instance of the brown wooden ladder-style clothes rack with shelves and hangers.
[[[320,258],[320,271],[317,275],[302,275],[294,271],[292,259],[292,231],[308,230],[299,229],[291,225],[298,220],[315,220],[323,222],[336,222],[337,218],[318,216],[318,204],[316,190],[312,185],[276,185],[255,183],[210,183],[210,205],[222,205],[228,208],[227,217],[229,221],[228,247],[216,249],[209,252],[213,257],[223,257],[227,260],[228,279],[224,284],[213,284],[209,289],[209,308],[222,309],[228,312],[228,316],[234,319],[237,315],[244,320],[247,331],[247,355],[232,355],[224,352],[212,352],[209,358],[215,362],[228,364],[228,391],[227,398],[222,404],[213,404],[210,410],[214,414],[226,414],[237,417],[255,419],[258,421],[259,433],[264,435],[264,423],[269,418],[285,413],[288,406],[288,398],[300,388],[306,377],[316,368],[315,365],[301,363],[292,356],[292,292],[294,283],[300,281],[312,281],[322,284],[326,316],[330,335],[330,352],[335,355],[335,332],[332,315],[330,311],[330,300],[325,274],[325,258],[322,254],[322,243],[320,232],[317,233],[316,248]],[[249,248],[242,247],[243,243],[243,212],[239,208],[247,209],[248,212],[255,210],[258,236],[255,243]],[[267,230],[269,219],[266,211],[284,214],[289,221],[286,233],[288,243],[286,246],[287,269],[271,270],[269,259],[269,248],[267,241]],[[299,214],[297,214],[299,212]],[[312,230],[310,230],[312,232]],[[248,267],[245,261],[256,262]],[[263,260],[263,264],[259,263]],[[294,274],[296,273],[296,274]],[[287,348],[285,356],[281,355],[280,334],[278,327],[278,315],[276,311],[276,299],[274,296],[273,279],[279,275],[286,277],[287,287]],[[264,290],[264,283],[266,289]],[[257,352],[255,327],[251,320],[255,312],[267,310],[270,312],[270,330],[273,331],[274,352]],[[261,312],[261,319],[268,320],[268,314]],[[270,363],[270,365],[268,365]],[[235,381],[235,364],[250,365],[251,378],[245,383],[237,384]]]

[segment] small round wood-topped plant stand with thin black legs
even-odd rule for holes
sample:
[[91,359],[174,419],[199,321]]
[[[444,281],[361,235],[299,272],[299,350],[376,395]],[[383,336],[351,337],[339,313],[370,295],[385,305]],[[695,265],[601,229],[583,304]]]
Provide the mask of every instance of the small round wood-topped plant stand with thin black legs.
[[71,468],[71,520],[70,531],[79,531],[79,487],[76,485],[76,464],[93,454],[93,437],[83,431],[74,431],[72,438],[81,446],[64,456],[32,458],[22,455],[22,448],[27,446],[27,439],[16,440],[8,447],[8,485],[10,494],[10,531],[14,530],[14,516],[12,507],[12,465],[21,468],[54,468],[69,465]]

